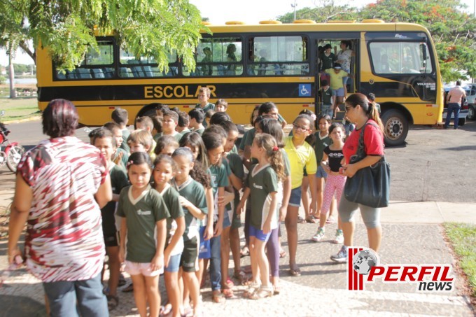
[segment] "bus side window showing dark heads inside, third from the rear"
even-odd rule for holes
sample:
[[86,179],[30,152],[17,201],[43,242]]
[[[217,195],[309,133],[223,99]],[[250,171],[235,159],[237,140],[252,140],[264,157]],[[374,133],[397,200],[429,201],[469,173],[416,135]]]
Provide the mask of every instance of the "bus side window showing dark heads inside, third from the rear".
[[202,38],[195,72],[184,66],[184,76],[240,76],[243,73],[241,38]]

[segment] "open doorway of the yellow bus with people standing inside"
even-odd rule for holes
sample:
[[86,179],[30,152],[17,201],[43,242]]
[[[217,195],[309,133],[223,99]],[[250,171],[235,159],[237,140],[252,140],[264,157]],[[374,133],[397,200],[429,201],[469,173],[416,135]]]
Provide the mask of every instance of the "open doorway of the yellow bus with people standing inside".
[[[330,85],[330,72],[334,71],[336,63],[341,66],[341,71],[349,73],[348,78],[342,80],[342,87],[345,87],[344,94],[352,94],[358,91],[358,71],[360,67],[358,52],[360,46],[360,34],[322,34],[325,36],[316,39],[316,113],[321,113],[322,96],[321,86],[323,80],[327,80]],[[339,59],[340,58],[340,59]],[[345,82],[345,86],[344,86]],[[340,107],[342,110],[342,106]]]

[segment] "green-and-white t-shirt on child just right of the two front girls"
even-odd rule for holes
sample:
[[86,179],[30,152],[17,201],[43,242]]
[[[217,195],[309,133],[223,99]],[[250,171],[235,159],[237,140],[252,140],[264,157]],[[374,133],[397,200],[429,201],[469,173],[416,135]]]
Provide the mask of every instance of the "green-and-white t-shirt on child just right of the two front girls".
[[[179,191],[179,194],[191,202],[194,206],[202,211],[202,213],[207,214],[207,199],[205,198],[205,190],[203,186],[195,181],[190,176],[188,180],[185,181],[182,185],[177,186],[174,181],[172,185],[176,190]],[[188,241],[197,237],[198,239],[198,230],[200,228],[200,220],[195,218],[186,207],[182,207],[183,214],[185,215],[185,232],[183,232],[183,241]]]

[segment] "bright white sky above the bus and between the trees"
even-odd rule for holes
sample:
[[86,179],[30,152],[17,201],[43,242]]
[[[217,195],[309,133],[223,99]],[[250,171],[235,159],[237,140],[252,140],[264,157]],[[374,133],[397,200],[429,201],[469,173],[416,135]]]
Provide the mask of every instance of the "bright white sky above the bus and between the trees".
[[[277,16],[292,12],[291,5],[297,5],[296,10],[305,7],[313,8],[315,0],[189,0],[197,6],[202,13],[202,17],[208,17],[213,24],[224,24],[226,21],[242,21],[247,24],[257,24],[262,20],[275,20]],[[376,0],[336,0],[340,5],[361,7]],[[475,0],[461,0],[468,6],[468,13],[474,12]],[[28,55],[17,53],[14,59],[18,64],[32,64]],[[8,57],[4,50],[0,50],[0,64],[6,66]]]

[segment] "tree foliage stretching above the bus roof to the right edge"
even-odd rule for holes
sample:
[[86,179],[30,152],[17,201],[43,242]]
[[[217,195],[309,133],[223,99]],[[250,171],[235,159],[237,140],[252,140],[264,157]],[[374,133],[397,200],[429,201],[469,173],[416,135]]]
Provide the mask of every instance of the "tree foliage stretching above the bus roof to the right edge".
[[[449,82],[476,77],[476,19],[464,9],[459,0],[377,0],[360,10],[335,6],[333,0],[320,0],[316,8],[297,10],[296,18],[316,22],[381,19],[421,24],[433,37],[442,78]],[[292,22],[293,17],[290,12],[278,20]]]

